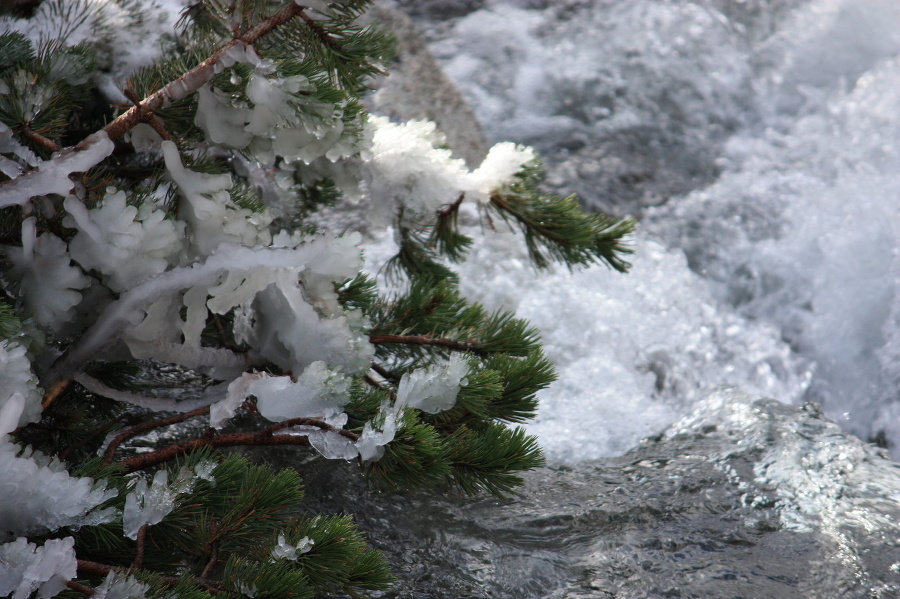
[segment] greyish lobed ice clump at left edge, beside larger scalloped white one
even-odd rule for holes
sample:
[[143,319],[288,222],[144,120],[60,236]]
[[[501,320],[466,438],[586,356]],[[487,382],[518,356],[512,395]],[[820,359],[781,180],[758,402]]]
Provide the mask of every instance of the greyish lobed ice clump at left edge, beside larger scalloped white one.
[[29,217],[22,221],[22,247],[3,250],[12,263],[13,289],[35,321],[51,330],[67,323],[90,280],[72,265],[66,243],[53,233],[36,235],[36,220]]

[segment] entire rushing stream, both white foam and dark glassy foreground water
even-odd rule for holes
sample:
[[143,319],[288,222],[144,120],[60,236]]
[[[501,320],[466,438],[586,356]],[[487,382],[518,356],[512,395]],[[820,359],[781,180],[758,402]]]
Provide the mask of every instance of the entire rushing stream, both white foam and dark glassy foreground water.
[[462,268],[561,375],[514,501],[313,478],[388,596],[900,597],[900,3],[396,4],[490,138],[641,223],[628,275]]

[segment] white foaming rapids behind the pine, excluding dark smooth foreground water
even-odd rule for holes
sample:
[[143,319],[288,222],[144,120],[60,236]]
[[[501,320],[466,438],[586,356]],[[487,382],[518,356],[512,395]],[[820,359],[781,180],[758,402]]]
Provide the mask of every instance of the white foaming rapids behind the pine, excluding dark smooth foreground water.
[[[535,278],[502,240],[465,268],[559,366],[531,427],[552,459],[622,453],[723,384],[898,455],[900,3],[489,0],[431,37],[495,140],[559,156],[641,129],[683,178],[628,275]],[[590,166],[558,172],[590,189]]]

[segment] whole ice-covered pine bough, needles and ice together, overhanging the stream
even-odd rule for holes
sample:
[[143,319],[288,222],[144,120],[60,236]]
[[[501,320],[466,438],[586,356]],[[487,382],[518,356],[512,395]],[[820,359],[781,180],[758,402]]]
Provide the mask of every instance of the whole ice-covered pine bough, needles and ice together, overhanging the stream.
[[[478,243],[457,221],[521,230],[539,267],[619,270],[633,223],[540,192],[530,148],[470,170],[433,125],[366,114],[391,45],[356,24],[368,4],[4,9],[0,594],[389,584],[349,518],[301,512],[295,471],[227,448],[469,494],[542,462],[515,424],[552,366],[527,323],[456,290]],[[389,291],[360,232],[321,224],[343,206],[394,228]]]

